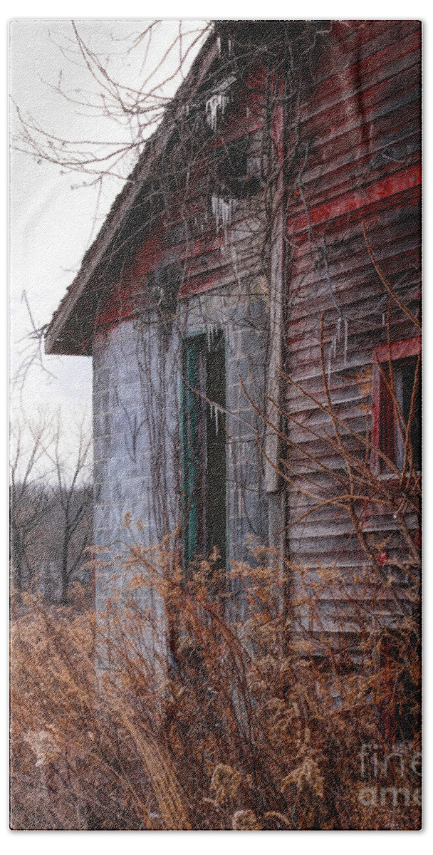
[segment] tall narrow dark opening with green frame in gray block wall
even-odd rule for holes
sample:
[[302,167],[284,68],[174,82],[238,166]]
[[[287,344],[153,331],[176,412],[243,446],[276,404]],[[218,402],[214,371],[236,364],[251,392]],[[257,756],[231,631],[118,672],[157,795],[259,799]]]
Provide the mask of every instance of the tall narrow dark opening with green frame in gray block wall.
[[225,339],[184,339],[182,457],[184,566],[210,557],[225,567]]

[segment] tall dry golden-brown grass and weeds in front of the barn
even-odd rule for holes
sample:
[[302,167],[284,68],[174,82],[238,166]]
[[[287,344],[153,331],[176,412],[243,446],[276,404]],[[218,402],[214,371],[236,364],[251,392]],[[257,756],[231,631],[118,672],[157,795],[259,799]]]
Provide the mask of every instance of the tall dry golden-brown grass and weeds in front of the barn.
[[[417,617],[375,631],[358,602],[331,633],[338,571],[286,567],[288,610],[280,559],[251,548],[231,568],[242,611],[215,563],[185,580],[164,545],[137,544],[121,608],[13,617],[13,828],[419,827]],[[150,585],[168,656],[146,653]]]

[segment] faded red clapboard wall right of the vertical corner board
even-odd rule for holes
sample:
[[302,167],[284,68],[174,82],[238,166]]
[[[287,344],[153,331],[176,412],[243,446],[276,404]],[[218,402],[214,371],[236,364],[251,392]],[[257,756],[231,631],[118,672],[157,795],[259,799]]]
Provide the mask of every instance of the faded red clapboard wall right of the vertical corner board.
[[[311,567],[335,564],[349,578],[368,563],[366,553],[348,510],[319,506],[348,489],[348,472],[329,414],[307,396],[326,407],[323,363],[344,449],[360,460],[358,491],[367,497],[373,351],[389,337],[412,338],[418,328],[395,301],[389,304],[362,227],[383,274],[417,315],[420,27],[411,21],[352,22],[350,32],[339,23],[331,31],[330,55],[319,62],[317,82],[301,109],[308,157],[288,205],[286,371],[298,386],[289,383],[285,394],[290,417],[281,469],[287,474],[291,559]],[[404,560],[407,545],[390,504],[384,499],[360,510],[358,502],[356,513],[370,543],[386,540],[392,564]],[[414,510],[407,509],[405,521],[416,533]],[[381,597],[383,614],[395,614],[395,602],[387,604],[383,593],[377,592],[376,604]],[[339,598],[336,592],[328,604],[323,601],[324,620],[342,613]]]

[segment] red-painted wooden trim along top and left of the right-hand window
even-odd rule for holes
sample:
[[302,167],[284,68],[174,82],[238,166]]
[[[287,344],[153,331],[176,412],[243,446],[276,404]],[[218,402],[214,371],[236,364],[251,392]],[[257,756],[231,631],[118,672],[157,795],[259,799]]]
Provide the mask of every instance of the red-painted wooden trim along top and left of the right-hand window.
[[378,477],[392,477],[394,474],[383,475],[380,471],[382,449],[380,447],[380,430],[383,420],[383,375],[380,369],[382,363],[396,363],[401,359],[418,357],[421,353],[421,336],[404,339],[381,345],[373,351],[373,389],[372,389],[372,473]]

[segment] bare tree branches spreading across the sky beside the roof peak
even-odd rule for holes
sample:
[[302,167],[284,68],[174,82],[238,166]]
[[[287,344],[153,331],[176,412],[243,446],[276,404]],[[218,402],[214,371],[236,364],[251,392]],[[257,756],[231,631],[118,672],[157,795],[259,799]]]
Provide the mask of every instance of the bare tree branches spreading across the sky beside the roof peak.
[[102,57],[86,43],[77,24],[71,21],[71,38],[63,38],[57,43],[69,67],[80,65],[86,68],[89,89],[77,90],[76,86],[67,85],[62,71],[56,85],[47,83],[47,86],[71,104],[77,114],[87,115],[93,121],[108,120],[107,139],[93,139],[92,136],[66,139],[43,127],[37,118],[23,111],[20,104],[15,104],[15,149],[38,162],[50,162],[65,172],[79,173],[85,176],[86,183],[97,184],[105,175],[125,180],[146,139],[161,121],[173,91],[184,79],[196,50],[212,27],[211,24],[200,26],[200,22],[191,27],[189,22],[178,21],[176,35],[162,55],[161,49],[157,50],[154,61],[154,45],[161,39],[164,22],[143,23],[143,29],[132,32],[120,48],[126,60],[133,55],[140,58],[139,81],[120,82],[118,71],[114,71],[116,51],[119,55],[119,38],[112,37],[112,52]]

